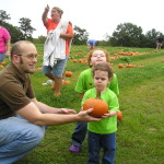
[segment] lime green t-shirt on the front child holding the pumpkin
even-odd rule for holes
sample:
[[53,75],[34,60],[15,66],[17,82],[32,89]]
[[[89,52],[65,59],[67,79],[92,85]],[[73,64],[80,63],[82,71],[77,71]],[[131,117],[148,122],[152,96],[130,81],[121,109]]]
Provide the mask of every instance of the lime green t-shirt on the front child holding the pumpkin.
[[[83,99],[81,102],[81,105],[84,104],[84,102],[87,98],[95,98],[96,97],[96,89],[93,87],[85,92]],[[110,91],[108,87],[107,90],[101,94],[101,99],[105,101],[108,104],[109,110],[118,110],[119,109],[119,103],[117,95]],[[99,121],[92,121],[87,124],[87,130],[95,133],[113,133],[117,131],[117,116],[107,117],[105,119],[102,119]]]

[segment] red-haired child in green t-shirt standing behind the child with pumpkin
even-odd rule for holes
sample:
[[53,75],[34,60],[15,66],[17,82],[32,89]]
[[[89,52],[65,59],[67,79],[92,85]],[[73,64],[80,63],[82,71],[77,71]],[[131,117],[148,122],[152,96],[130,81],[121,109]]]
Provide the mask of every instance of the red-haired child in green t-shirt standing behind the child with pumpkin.
[[[108,52],[105,49],[93,49],[89,52],[87,63],[89,69],[82,71],[79,75],[75,91],[79,93],[80,98],[83,98],[84,93],[94,87],[94,81],[92,78],[92,67],[97,63],[108,62],[109,57]],[[114,91],[117,95],[119,94],[118,89],[118,80],[117,75],[114,73],[113,80],[108,84],[108,87]],[[78,122],[77,127],[72,133],[72,144],[70,147],[70,152],[79,153],[80,148],[85,139],[86,131],[87,131],[87,124],[86,122]]]

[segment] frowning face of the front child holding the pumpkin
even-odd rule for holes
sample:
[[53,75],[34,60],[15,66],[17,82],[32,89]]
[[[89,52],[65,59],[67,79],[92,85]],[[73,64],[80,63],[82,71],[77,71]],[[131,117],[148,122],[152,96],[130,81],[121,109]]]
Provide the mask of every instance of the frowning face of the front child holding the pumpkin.
[[105,91],[109,83],[107,71],[96,70],[94,73],[94,85],[98,91]]

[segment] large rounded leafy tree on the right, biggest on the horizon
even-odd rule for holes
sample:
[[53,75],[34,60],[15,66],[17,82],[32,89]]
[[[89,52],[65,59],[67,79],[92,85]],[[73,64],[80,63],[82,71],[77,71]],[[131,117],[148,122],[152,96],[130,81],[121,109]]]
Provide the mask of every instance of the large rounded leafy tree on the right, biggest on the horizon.
[[119,24],[109,37],[112,46],[141,47],[144,35],[140,26],[132,23]]

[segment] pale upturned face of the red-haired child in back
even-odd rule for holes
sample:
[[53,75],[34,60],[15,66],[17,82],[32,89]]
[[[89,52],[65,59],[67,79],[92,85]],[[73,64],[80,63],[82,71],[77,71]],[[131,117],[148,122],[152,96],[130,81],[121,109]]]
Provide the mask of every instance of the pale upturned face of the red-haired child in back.
[[103,50],[94,50],[91,57],[91,66],[102,62],[107,62],[105,52]]

